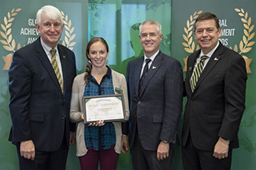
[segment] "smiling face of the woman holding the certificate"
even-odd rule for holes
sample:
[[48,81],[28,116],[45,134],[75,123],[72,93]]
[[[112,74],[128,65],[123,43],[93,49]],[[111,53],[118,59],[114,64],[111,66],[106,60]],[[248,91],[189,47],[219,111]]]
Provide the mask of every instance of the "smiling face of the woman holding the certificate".
[[94,42],[90,45],[89,53],[87,57],[92,63],[92,68],[102,68],[106,65],[106,57],[109,56],[106,45],[102,42]]

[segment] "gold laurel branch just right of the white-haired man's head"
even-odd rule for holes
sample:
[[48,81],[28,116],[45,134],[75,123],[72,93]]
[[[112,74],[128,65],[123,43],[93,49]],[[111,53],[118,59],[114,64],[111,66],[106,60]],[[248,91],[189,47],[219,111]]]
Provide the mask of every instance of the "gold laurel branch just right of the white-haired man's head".
[[75,34],[72,35],[72,33],[74,32],[74,27],[71,28],[71,20],[68,20],[68,16],[64,14],[63,11],[61,11],[62,13],[62,18],[63,18],[63,22],[64,22],[64,27],[65,27],[65,39],[62,42],[62,45],[66,46],[67,48],[69,48],[70,50],[74,49],[74,45],[76,44],[76,42],[72,42],[75,38]]

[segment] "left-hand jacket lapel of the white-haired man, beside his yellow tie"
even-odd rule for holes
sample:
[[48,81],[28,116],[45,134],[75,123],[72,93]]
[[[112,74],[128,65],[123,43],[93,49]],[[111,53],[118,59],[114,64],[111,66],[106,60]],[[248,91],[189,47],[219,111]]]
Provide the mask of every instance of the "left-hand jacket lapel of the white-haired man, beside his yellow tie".
[[45,50],[42,48],[40,38],[38,38],[38,40],[37,40],[36,51],[38,53],[39,60],[42,62],[42,65],[44,65],[44,67],[46,68],[46,71],[49,73],[50,79],[52,81],[54,81],[54,85],[56,85],[59,92],[62,93],[61,86],[58,83],[58,78],[56,77],[56,74],[54,72],[54,68],[50,63],[49,58],[47,57]]

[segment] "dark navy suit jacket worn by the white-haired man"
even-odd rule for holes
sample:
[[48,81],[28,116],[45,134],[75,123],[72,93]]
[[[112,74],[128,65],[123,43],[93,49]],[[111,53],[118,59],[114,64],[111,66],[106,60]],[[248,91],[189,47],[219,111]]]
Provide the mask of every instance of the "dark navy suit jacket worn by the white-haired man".
[[[52,152],[69,144],[70,97],[76,75],[74,53],[58,45],[62,62],[64,94],[40,38],[14,53],[9,70],[10,140],[14,144],[33,140],[35,148]],[[74,125],[72,129],[74,131]]]

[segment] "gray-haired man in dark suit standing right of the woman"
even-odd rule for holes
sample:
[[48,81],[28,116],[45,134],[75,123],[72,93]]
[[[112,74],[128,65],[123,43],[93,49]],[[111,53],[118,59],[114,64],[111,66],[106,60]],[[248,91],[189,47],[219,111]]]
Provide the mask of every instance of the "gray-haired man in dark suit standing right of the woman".
[[[159,50],[162,30],[158,22],[146,20],[139,30],[144,56],[130,61],[126,72],[130,153],[134,169],[169,169],[174,147],[178,145],[176,131],[182,113],[182,66]],[[147,59],[150,59],[148,64]],[[146,75],[144,69],[148,69]],[[123,125],[122,132],[126,138],[128,124]],[[122,146],[123,152],[127,151],[125,142]]]

